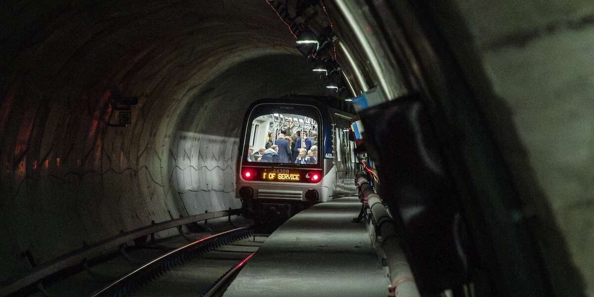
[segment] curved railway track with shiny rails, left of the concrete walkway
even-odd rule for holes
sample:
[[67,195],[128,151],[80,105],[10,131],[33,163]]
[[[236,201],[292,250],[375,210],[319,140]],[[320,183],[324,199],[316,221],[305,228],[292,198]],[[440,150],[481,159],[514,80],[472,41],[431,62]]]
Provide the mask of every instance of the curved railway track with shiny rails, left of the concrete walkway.
[[174,249],[91,296],[220,296],[267,234],[232,229]]

